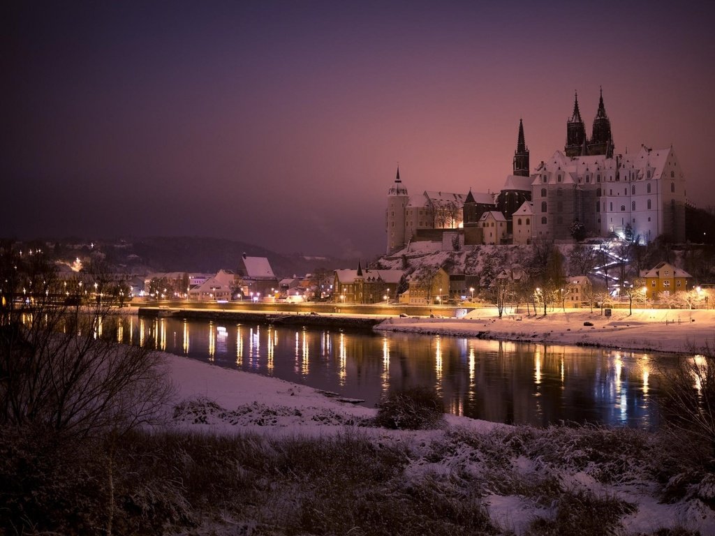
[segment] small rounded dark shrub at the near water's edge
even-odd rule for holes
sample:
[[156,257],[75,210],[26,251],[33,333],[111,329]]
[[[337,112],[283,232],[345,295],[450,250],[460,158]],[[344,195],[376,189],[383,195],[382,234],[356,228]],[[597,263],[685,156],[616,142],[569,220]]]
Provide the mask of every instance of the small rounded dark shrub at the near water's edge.
[[393,430],[428,430],[444,419],[442,397],[430,387],[392,391],[378,402],[375,424]]

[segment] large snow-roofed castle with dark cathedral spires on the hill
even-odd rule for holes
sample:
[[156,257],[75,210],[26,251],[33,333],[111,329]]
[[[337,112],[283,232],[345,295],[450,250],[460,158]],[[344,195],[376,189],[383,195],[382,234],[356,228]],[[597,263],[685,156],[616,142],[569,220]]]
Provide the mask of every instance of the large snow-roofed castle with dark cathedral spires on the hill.
[[[408,194],[400,180],[388,191],[387,252],[420,239],[443,239],[445,230],[464,244],[529,244],[533,239],[631,234],[644,242],[668,235],[685,239],[685,177],[673,147],[615,154],[603,92],[591,138],[578,94],[566,121],[566,145],[530,172],[519,121],[513,174],[498,194],[425,191]],[[456,235],[458,236],[458,235]]]

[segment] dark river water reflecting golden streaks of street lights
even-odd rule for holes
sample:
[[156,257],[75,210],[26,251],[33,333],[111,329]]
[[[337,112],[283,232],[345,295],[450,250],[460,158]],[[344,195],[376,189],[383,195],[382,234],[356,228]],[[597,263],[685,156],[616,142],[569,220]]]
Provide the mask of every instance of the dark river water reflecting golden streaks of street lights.
[[667,354],[465,337],[127,317],[122,342],[365,399],[438,389],[448,411],[493,422],[657,427]]

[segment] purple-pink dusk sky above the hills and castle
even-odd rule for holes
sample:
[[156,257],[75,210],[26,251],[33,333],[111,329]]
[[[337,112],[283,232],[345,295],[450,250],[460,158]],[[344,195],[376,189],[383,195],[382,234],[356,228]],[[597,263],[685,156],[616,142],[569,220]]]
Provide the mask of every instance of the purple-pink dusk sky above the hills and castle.
[[[678,154],[715,205],[706,2],[15,0],[2,16],[0,236],[385,248],[385,195],[498,191],[598,88],[616,152]],[[9,11],[8,11],[9,10]]]

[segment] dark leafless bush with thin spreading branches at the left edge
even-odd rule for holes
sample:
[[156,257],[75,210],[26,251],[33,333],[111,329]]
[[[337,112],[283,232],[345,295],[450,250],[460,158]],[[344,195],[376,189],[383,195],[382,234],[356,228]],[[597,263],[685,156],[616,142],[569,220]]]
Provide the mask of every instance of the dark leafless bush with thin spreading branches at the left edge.
[[162,417],[173,388],[161,354],[103,339],[109,306],[66,306],[54,267],[28,257],[0,247],[0,424],[87,437]]

